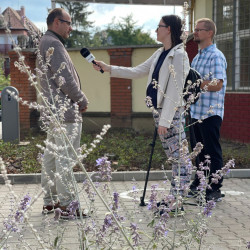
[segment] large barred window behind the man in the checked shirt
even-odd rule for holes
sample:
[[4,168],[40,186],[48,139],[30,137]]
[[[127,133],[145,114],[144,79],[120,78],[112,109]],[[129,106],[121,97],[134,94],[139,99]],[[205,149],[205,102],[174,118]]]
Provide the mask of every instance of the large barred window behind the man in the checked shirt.
[[227,63],[228,90],[250,91],[250,1],[215,0],[215,42]]

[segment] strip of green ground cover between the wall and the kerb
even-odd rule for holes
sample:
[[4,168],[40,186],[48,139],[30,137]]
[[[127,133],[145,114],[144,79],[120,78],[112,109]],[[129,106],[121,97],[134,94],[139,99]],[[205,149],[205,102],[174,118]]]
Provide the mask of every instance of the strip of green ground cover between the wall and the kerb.
[[[81,143],[90,145],[96,134],[83,133]],[[88,171],[96,169],[96,159],[107,155],[112,161],[114,171],[146,170],[151,152],[152,135],[139,134],[131,129],[110,129],[101,143],[84,160]],[[45,139],[43,133],[25,138],[30,144],[19,146],[0,140],[0,155],[6,163],[8,173],[39,173],[41,166],[37,161],[40,150],[37,144]],[[224,162],[234,158],[236,168],[250,168],[250,144],[240,144],[222,140]],[[159,139],[156,141],[152,169],[170,169]],[[77,168],[75,169],[77,171]]]

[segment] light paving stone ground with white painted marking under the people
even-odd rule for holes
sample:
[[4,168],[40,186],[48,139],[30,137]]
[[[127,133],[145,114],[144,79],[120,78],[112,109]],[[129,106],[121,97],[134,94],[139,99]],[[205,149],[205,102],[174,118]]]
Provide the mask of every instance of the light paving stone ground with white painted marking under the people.
[[[102,183],[102,185],[105,183]],[[169,183],[164,183],[162,180],[150,181],[148,187],[153,184],[158,184],[158,192],[166,193],[166,190],[169,189]],[[119,198],[119,211],[120,214],[125,216],[127,220],[138,223],[141,230],[150,234],[152,229],[147,227],[147,224],[152,220],[152,212],[147,209],[147,207],[141,207],[138,205],[138,202],[134,202],[133,197],[139,198],[142,195],[142,190],[144,187],[144,182],[139,181],[132,183],[132,181],[113,181],[110,184],[111,193],[118,192],[120,194]],[[133,192],[133,187],[136,185],[135,191]],[[82,184],[78,183],[78,188],[80,190],[80,200],[81,205],[86,204],[86,197],[84,196],[84,191],[82,190]],[[53,214],[42,215],[41,208],[43,205],[42,196],[39,196],[41,192],[40,184],[15,184],[12,186],[13,193],[16,195],[17,200],[21,200],[24,195],[29,194],[32,199],[35,199],[35,196],[38,196],[37,200],[32,205],[28,222],[30,227],[25,225],[24,231],[22,234],[25,239],[27,248],[21,248],[20,243],[20,233],[12,232],[8,240],[8,248],[4,248],[6,245],[0,245],[0,249],[43,249],[39,245],[38,241],[41,239],[44,241],[45,245],[53,245],[56,236],[63,235],[59,238],[62,240],[63,244],[59,249],[79,249],[78,241],[78,231],[76,227],[77,221],[63,221],[55,222],[53,220]],[[201,249],[214,249],[214,250],[233,250],[233,249],[246,249],[247,241],[250,241],[250,179],[237,179],[229,178],[224,180],[224,186],[222,188],[223,193],[225,193],[225,198],[221,202],[216,204],[216,208],[212,212],[212,217],[209,218],[209,227],[207,234],[204,236]],[[11,193],[6,185],[0,185],[0,242],[3,242],[3,230],[4,218],[8,218],[8,215],[11,213],[11,204],[13,203],[13,193]],[[150,195],[150,190],[147,190],[146,199]],[[108,197],[108,194],[102,196],[105,199],[105,196]],[[190,202],[190,201],[189,201]],[[95,219],[96,223],[103,223],[107,209],[101,202],[100,198],[95,198],[95,207],[96,212],[88,219],[84,219],[83,224],[91,223],[92,218]],[[168,219],[169,228],[175,225],[175,220],[177,222],[177,228],[183,229],[183,225],[187,220],[197,219],[198,217],[198,207],[185,205],[185,216],[178,218]],[[16,211],[15,209],[13,209]],[[79,222],[79,221],[78,221]],[[31,225],[32,224],[32,225]],[[48,225],[50,227],[48,228]],[[129,226],[128,222],[124,222],[124,225]],[[64,231],[62,231],[62,227]],[[36,230],[36,233],[33,233],[32,230]],[[142,236],[142,248],[141,249],[152,249],[147,248],[148,239],[145,235]],[[173,239],[173,233],[168,232],[166,238]],[[91,241],[93,238],[90,234],[88,239]],[[177,236],[176,241],[181,240]],[[114,239],[115,244],[109,249],[130,249],[125,247],[126,243],[121,236]],[[157,249],[170,249],[166,246],[166,242],[162,242]],[[51,248],[52,249],[52,248]],[[90,249],[98,249],[91,248]],[[100,248],[101,249],[101,248]],[[107,248],[108,249],[108,248]],[[184,247],[177,247],[175,249],[185,249]],[[198,249],[198,246],[192,246],[189,249]]]

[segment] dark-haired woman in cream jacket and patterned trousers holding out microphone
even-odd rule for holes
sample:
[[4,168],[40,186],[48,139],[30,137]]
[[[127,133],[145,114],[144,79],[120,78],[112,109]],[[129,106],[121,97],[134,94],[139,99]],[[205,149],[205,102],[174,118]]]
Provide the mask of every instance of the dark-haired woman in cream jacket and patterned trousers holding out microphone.
[[[155,126],[168,160],[172,164],[170,195],[186,195],[191,178],[192,164],[188,151],[180,157],[180,144],[186,138],[181,113],[184,111],[182,92],[189,72],[189,59],[181,40],[182,22],[177,15],[163,16],[156,29],[157,41],[163,44],[150,58],[136,67],[120,67],[95,61],[95,70],[109,72],[111,77],[139,78],[148,76],[146,87],[147,106],[152,108]],[[181,143],[179,141],[181,136]],[[180,177],[180,178],[179,178]],[[168,211],[182,208],[182,203],[164,202]],[[174,199],[176,201],[176,199]],[[161,210],[162,211],[162,210]]]

